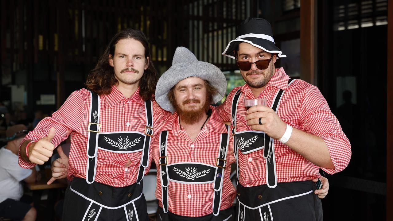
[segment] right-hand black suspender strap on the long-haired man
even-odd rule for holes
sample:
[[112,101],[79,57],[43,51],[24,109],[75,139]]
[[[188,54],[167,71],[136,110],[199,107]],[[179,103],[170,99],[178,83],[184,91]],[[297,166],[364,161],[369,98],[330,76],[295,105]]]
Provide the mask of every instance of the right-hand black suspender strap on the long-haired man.
[[151,100],[145,101],[145,110],[146,110],[146,127],[145,127],[145,145],[142,150],[142,157],[141,157],[141,165],[138,171],[138,178],[136,182],[140,184],[143,176],[145,175],[145,168],[149,164],[149,147],[150,147],[150,140],[153,136],[153,102]]

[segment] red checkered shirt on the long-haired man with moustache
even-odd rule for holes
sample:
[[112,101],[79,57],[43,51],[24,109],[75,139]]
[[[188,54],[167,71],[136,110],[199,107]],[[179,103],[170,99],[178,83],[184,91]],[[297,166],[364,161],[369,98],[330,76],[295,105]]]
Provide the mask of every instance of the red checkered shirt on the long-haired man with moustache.
[[[74,91],[52,117],[44,118],[30,131],[24,140],[39,140],[47,136],[51,127],[55,127],[56,135],[52,144],[57,146],[71,134],[70,161],[68,179],[72,176],[86,178],[87,164],[87,127],[89,122],[90,93],[86,89]],[[166,113],[153,104],[154,133],[165,124]],[[100,96],[101,132],[139,131],[145,133],[146,112],[145,103],[139,95],[139,88],[130,98],[119,91],[116,86],[108,95]],[[23,141],[24,141],[23,140]],[[23,142],[22,141],[22,142]],[[142,151],[136,153],[113,153],[98,149],[97,170],[95,181],[114,187],[128,186],[136,182]],[[124,168],[127,159],[131,164]],[[151,158],[149,159],[151,162]],[[19,165],[32,168],[33,163],[22,160]],[[149,171],[150,163],[146,169]]]

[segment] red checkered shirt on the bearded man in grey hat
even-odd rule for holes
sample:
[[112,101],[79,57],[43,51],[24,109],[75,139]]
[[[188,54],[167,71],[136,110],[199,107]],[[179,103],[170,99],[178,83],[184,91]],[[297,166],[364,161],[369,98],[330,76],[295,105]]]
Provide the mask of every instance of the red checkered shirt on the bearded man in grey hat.
[[[226,127],[215,110],[212,111],[209,121],[202,128],[194,141],[191,141],[184,128],[180,126],[178,114],[174,114],[162,131],[168,131],[167,135],[167,160],[168,164],[178,162],[200,162],[215,166],[220,151],[220,134],[227,133]],[[154,137],[152,143],[153,159],[158,166],[160,157],[159,134]],[[230,180],[233,157],[233,139],[228,144],[222,182],[222,202],[220,210],[229,208],[235,199],[236,190]],[[188,217],[199,217],[213,212],[213,183],[184,184],[169,180],[168,185],[168,209],[170,212]],[[162,207],[162,188],[160,177],[157,176],[156,197]]]

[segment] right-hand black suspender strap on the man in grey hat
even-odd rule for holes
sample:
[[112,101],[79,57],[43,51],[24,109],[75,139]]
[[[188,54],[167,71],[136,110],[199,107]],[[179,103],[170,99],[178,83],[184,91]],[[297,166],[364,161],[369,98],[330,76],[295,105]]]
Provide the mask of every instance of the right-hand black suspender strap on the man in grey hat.
[[226,167],[226,156],[228,152],[228,144],[230,138],[230,127],[225,125],[227,133],[222,133],[220,137],[220,149],[216,161],[216,176],[214,178],[214,195],[213,195],[213,215],[220,213],[222,181],[224,177],[224,169]]

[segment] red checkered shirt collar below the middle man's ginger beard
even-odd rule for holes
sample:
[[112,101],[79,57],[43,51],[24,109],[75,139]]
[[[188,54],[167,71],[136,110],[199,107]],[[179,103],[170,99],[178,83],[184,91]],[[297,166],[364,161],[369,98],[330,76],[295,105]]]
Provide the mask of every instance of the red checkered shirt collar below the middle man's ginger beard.
[[[215,133],[227,133],[226,127],[222,122],[221,118],[217,114],[217,111],[213,106],[210,106],[212,109],[211,116],[208,122],[204,125],[202,130]],[[168,120],[167,124],[162,128],[161,131],[173,131],[176,136],[179,131],[183,130],[179,123],[179,114],[175,112]]]

